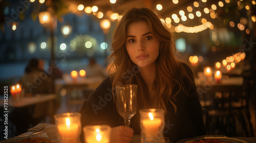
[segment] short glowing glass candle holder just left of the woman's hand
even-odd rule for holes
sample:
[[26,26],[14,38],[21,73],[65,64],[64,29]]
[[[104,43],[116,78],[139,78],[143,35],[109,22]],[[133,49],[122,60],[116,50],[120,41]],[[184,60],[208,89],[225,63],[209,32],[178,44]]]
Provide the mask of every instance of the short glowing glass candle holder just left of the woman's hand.
[[110,143],[111,127],[109,125],[84,126],[82,130],[86,143]]

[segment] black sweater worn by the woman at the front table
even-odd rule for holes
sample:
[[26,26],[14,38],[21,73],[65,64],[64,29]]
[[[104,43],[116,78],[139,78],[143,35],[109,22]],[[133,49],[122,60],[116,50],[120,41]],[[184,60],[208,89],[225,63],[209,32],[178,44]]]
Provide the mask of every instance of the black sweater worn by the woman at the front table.
[[[191,71],[190,68],[189,70]],[[183,81],[185,85],[186,82],[189,82]],[[176,113],[173,105],[170,102],[167,103],[163,133],[172,142],[205,134],[202,107],[198,99],[196,85],[189,88],[189,95],[190,97],[186,96],[182,89],[177,94]],[[80,113],[82,114],[82,127],[103,124],[111,127],[124,125],[124,120],[116,109],[112,95],[112,81],[109,77],[92,92],[87,101],[84,101]],[[130,127],[134,129],[135,134],[140,134],[139,113],[132,117]]]

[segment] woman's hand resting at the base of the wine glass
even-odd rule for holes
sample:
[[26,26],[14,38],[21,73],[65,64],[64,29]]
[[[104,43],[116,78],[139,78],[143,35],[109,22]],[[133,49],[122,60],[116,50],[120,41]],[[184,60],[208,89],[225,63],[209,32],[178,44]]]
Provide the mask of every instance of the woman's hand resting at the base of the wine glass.
[[111,130],[111,143],[129,143],[132,141],[133,129],[126,126],[114,127]]

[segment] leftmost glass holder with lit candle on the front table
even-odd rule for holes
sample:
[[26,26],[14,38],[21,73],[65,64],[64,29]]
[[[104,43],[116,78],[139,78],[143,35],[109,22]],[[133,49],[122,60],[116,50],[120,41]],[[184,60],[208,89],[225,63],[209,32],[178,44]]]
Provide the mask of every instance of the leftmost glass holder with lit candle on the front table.
[[81,134],[81,114],[63,113],[54,115],[55,131],[61,142],[78,143]]

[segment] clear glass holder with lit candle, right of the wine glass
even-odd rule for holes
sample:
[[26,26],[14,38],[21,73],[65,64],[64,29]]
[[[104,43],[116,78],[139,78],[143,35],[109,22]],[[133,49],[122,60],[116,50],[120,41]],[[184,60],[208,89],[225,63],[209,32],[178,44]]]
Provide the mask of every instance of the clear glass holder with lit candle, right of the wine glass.
[[141,142],[165,142],[164,110],[142,109],[140,112]]

